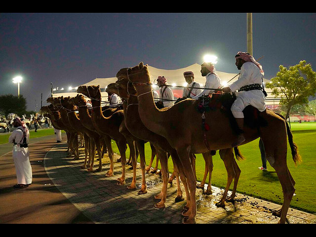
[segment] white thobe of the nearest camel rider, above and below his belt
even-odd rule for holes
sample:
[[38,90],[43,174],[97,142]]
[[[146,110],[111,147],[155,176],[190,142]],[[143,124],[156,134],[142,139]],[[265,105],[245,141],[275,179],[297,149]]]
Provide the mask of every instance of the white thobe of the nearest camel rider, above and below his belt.
[[[262,84],[262,74],[257,65],[252,62],[246,62],[240,68],[239,78],[229,88],[235,92],[240,87],[251,84]],[[266,109],[266,97],[261,90],[238,91],[236,92],[236,97],[231,108],[235,118],[244,118],[242,111],[248,105],[252,105],[260,112]]]

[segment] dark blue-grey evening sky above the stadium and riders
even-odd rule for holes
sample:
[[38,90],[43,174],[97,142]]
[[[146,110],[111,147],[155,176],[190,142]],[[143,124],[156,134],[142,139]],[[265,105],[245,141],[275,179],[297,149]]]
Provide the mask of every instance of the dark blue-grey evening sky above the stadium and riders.
[[[316,71],[316,13],[253,13],[253,56],[265,78],[279,65],[306,60]],[[0,13],[0,95],[17,95],[12,78],[23,77],[27,110],[40,109],[54,87],[115,77],[143,61],[159,69],[218,57],[216,70],[238,73],[245,52],[246,13]]]

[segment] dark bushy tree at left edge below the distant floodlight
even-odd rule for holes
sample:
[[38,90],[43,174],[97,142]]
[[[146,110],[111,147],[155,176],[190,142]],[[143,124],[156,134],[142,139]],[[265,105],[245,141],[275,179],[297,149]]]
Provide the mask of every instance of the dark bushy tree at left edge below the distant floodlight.
[[20,95],[19,97],[12,94],[0,96],[0,113],[5,116],[10,113],[21,116],[25,114],[26,107],[26,99],[23,95]]

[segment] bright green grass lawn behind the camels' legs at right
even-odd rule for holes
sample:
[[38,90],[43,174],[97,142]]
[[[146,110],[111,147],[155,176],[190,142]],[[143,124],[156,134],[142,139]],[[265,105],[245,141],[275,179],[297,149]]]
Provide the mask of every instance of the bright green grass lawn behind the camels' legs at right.
[[[295,184],[295,194],[291,201],[291,207],[310,213],[316,213],[316,122],[294,123],[291,122],[293,140],[297,144],[299,153],[303,162],[295,166],[292,159],[291,150],[288,144],[287,165],[293,176]],[[113,144],[114,152],[118,153],[118,148]],[[244,160],[237,164],[241,169],[238,181],[237,192],[252,197],[258,197],[274,203],[282,204],[283,193],[280,182],[278,181],[275,169],[267,162],[268,171],[259,170],[262,165],[259,139],[239,147]],[[149,164],[151,158],[151,149],[149,143],[146,143],[146,164]],[[126,157],[129,156],[127,149]],[[139,162],[139,158],[138,158]],[[154,161],[155,165],[156,159]],[[169,171],[172,172],[173,165],[171,159],[168,162]],[[221,160],[218,152],[213,156],[212,185],[225,188],[227,183],[227,172],[224,162]],[[159,166],[160,168],[160,166]],[[196,172],[197,181],[201,181],[204,175],[205,162],[201,154],[197,155]],[[208,182],[208,178],[206,180]],[[231,189],[233,189],[233,183]]]

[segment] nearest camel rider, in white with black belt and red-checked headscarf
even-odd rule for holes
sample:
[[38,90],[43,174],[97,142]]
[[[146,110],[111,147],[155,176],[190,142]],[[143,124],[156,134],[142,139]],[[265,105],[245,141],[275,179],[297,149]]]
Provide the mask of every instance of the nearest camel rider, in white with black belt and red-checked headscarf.
[[243,136],[243,109],[247,105],[252,105],[260,112],[266,110],[265,95],[262,92],[262,83],[264,71],[262,66],[258,63],[249,53],[238,52],[235,56],[236,66],[240,70],[239,78],[229,85],[223,88],[223,92],[236,92],[236,100],[232,105],[232,113],[236,118],[237,125],[241,130],[241,134],[238,135],[237,141],[232,144],[233,147],[237,147],[244,142]]

